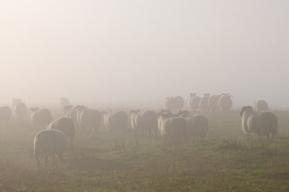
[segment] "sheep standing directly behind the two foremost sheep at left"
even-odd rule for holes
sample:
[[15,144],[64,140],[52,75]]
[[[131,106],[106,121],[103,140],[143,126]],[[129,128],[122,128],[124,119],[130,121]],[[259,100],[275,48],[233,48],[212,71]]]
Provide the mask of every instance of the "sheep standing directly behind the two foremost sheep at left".
[[46,125],[48,125],[51,120],[52,120],[52,116],[51,116],[51,112],[47,109],[41,109],[39,107],[31,107],[30,108],[31,111],[31,124],[35,127],[35,126],[40,126],[40,128],[44,128]]

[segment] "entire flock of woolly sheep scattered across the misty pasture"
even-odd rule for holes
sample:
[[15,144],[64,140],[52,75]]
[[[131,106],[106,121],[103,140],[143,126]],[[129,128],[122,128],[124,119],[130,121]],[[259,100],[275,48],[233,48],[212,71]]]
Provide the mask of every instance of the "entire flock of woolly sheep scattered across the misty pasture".
[[[204,94],[202,98],[197,94],[190,94],[190,107],[192,111],[218,111],[230,110],[233,103],[231,94],[213,95]],[[83,105],[72,106],[67,98],[60,98],[60,107],[63,117],[52,121],[51,112],[39,107],[30,108],[31,124],[35,128],[41,128],[34,138],[34,155],[40,166],[40,158],[44,157],[45,165],[49,157],[55,155],[61,160],[63,153],[68,148],[68,139],[73,148],[76,130],[97,130],[101,123],[108,129],[122,131],[131,128],[135,137],[144,132],[160,132],[163,144],[188,139],[189,137],[201,137],[204,139],[208,131],[208,119],[204,114],[190,115],[188,110],[182,110],[184,105],[181,96],[168,97],[165,100],[166,110],[160,112],[131,110],[100,112]],[[26,113],[26,105],[19,98],[13,99],[15,116],[20,119]],[[175,111],[177,110],[177,111]],[[12,115],[9,107],[0,107],[0,121],[7,123]],[[254,106],[242,107],[242,130],[245,134],[254,132],[259,137],[265,135],[270,141],[276,135],[278,121],[276,115],[268,112],[265,101],[257,101]],[[272,135],[270,137],[270,134]],[[120,143],[119,143],[120,142]],[[124,141],[115,141],[117,148],[124,147]]]

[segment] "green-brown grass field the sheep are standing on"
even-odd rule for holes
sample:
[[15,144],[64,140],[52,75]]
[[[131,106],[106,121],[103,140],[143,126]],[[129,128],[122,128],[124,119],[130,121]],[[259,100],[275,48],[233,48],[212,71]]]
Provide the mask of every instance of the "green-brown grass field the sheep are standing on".
[[[64,161],[40,169],[37,131],[14,119],[0,130],[0,191],[289,191],[289,112],[275,114],[273,143],[246,141],[238,111],[209,113],[205,141],[163,148],[160,135],[136,143],[132,132],[100,128],[77,132]],[[119,134],[123,150],[114,149]]]

